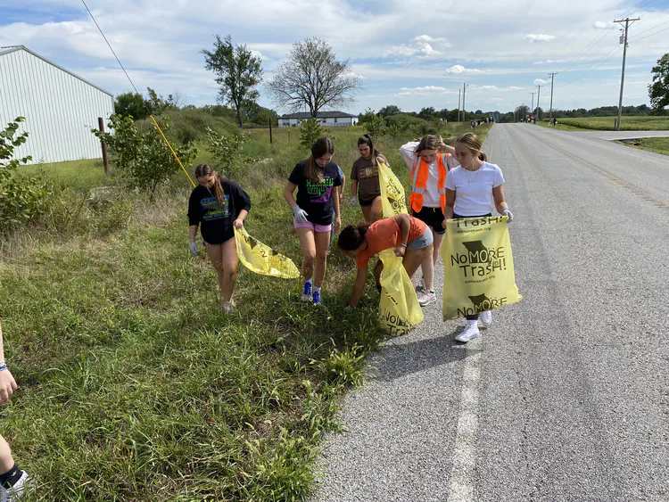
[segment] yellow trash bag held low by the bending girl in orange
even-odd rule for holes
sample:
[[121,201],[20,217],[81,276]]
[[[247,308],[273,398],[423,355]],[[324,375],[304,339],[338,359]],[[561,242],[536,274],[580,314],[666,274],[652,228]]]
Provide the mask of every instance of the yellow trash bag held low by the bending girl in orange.
[[423,310],[418,304],[414,285],[394,250],[378,253],[384,262],[381,272],[381,301],[378,306],[379,321],[391,334],[406,334],[423,320]]

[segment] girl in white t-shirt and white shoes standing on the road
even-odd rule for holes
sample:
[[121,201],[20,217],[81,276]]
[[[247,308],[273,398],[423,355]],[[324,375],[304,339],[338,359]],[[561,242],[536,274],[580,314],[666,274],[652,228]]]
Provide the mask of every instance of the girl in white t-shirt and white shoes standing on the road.
[[[455,155],[459,167],[451,169],[446,177],[446,209],[442,226],[450,218],[475,218],[491,216],[494,205],[497,212],[513,221],[513,214],[504,200],[504,177],[499,167],[487,162],[481,152],[481,140],[474,133],[458,137]],[[486,310],[481,314],[483,327],[492,324],[492,314]],[[478,315],[467,316],[467,327],[455,339],[469,342],[479,335]]]

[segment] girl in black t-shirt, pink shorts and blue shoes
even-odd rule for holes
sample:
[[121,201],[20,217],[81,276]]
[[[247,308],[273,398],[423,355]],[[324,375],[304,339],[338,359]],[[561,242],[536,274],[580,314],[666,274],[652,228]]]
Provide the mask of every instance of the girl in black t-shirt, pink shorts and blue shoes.
[[[333,223],[335,232],[342,226],[339,197],[336,196],[336,187],[342,185],[342,177],[339,166],[332,161],[334,153],[332,139],[319,137],[311,146],[310,158],[297,163],[284,190],[285,202],[293,208],[293,226],[302,248],[302,276],[305,280],[302,300],[314,305],[320,304],[320,287],[326,277]],[[295,188],[297,197],[293,198]]]

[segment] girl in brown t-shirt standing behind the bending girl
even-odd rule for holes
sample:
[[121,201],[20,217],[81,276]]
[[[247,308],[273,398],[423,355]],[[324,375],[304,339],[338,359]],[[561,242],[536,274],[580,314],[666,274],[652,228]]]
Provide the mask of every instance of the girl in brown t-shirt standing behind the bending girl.
[[374,223],[381,218],[381,187],[378,181],[379,160],[388,164],[388,160],[376,151],[369,135],[358,139],[360,157],[353,162],[351,169],[351,206],[360,204],[365,221]]

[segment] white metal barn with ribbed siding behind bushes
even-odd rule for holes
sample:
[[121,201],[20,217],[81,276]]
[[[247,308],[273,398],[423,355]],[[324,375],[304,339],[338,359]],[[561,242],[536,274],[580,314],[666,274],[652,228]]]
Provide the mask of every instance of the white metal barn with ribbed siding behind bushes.
[[33,163],[102,157],[90,132],[114,112],[114,96],[23,45],[0,47],[0,129],[25,117],[28,141],[14,151]]

